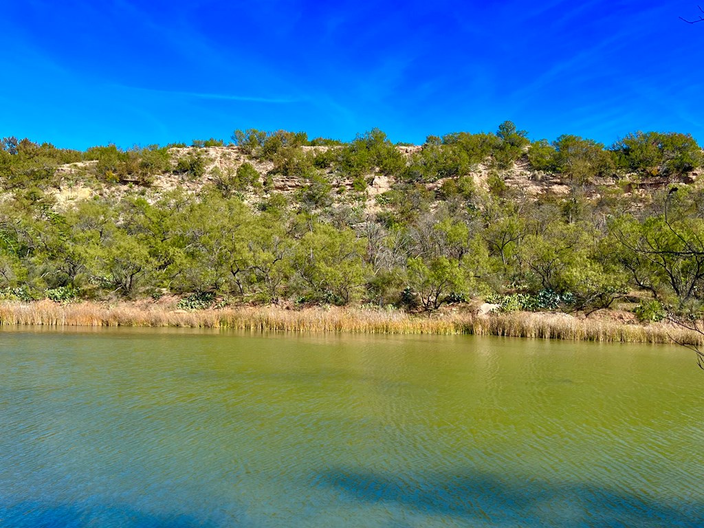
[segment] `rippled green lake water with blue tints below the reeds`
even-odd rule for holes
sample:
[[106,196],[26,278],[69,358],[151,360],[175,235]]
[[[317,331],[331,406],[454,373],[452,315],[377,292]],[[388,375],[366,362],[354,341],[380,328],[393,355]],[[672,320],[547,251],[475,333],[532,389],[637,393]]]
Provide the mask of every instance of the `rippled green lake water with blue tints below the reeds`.
[[704,527],[676,346],[0,330],[0,527]]

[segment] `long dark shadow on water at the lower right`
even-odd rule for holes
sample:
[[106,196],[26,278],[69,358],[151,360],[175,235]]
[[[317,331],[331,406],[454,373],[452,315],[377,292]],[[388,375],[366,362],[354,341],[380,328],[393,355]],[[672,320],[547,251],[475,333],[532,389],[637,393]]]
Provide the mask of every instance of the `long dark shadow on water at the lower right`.
[[591,484],[518,480],[494,474],[379,474],[336,470],[316,482],[355,501],[396,503],[472,526],[704,527],[704,504],[667,503]]

